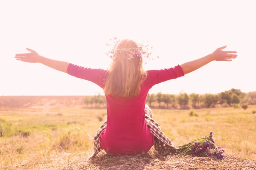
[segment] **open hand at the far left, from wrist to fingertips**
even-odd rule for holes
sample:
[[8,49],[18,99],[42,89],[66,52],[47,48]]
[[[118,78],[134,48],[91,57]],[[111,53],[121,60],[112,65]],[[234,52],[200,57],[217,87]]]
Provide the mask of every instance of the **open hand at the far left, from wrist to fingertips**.
[[16,60],[23,62],[37,63],[40,62],[41,56],[32,49],[26,48],[30,53],[15,54]]

